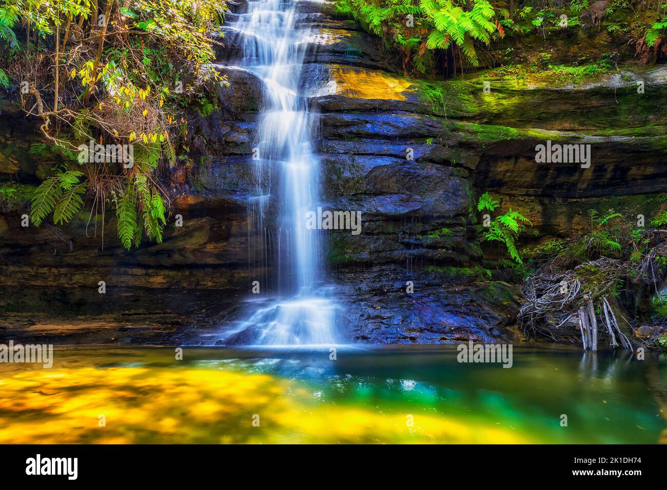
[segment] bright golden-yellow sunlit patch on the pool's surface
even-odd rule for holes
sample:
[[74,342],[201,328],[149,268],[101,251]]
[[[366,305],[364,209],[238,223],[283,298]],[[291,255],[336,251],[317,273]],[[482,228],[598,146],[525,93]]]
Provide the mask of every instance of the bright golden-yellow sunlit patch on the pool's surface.
[[0,393],[0,443],[534,442],[422,411],[408,427],[408,413],[333,405],[297,381],[219,367],[5,369]]

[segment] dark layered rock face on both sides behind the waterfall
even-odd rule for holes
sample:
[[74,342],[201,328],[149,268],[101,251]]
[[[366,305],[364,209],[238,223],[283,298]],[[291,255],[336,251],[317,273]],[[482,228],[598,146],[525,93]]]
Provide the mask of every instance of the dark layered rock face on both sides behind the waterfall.
[[[501,209],[529,217],[540,231],[532,241],[540,241],[575,234],[586,225],[589,207],[642,205],[646,195],[667,187],[664,67],[556,89],[481,75],[419,81],[398,74],[379,41],[337,19],[331,3],[298,5],[298,21],[313,27],[301,87],[320,113],[319,205],[362,214],[360,234],[327,235],[327,281],[345,307],[341,321],[350,341],[520,338],[512,327],[520,293],[490,280],[482,267],[485,253],[493,258],[496,249],[480,243],[480,191],[500,197]],[[5,311],[21,313],[22,328],[39,323],[30,313],[35,305],[56,298],[76,297],[69,300],[73,311],[95,304],[98,281],[106,281],[109,291],[131,291],[123,289],[105,315],[119,329],[139,328],[114,331],[109,339],[190,341],[196,336],[186,339],[180,326],[225,325],[251,282],[271,277],[271,223],[263,223],[268,231],[258,230],[249,205],[261,81],[233,68],[239,55],[233,44],[219,50],[218,68],[230,85],[215,87],[212,109],[191,114],[193,171],[175,171],[165,181],[171,219],[163,243],[127,252],[108,216],[103,248],[99,225],[97,237],[86,237],[95,223],[87,213],[58,232],[64,238],[48,227],[21,227],[20,209],[0,216],[0,285],[19,282],[41,291],[32,303],[7,296],[13,299],[5,301]],[[14,124],[2,131],[3,144],[26,139]],[[536,145],[546,141],[590,145],[590,166],[536,163]],[[38,183],[39,162],[32,165],[23,163],[21,175]],[[3,164],[3,177],[17,175],[16,166]],[[183,217],[182,227],[175,227],[175,215]],[[66,288],[72,292],[59,292]],[[198,306],[182,291],[199,291],[191,296]],[[137,298],[144,294],[151,301],[142,306]],[[129,311],[141,315],[129,319]],[[175,327],[148,335],[165,323],[158,313],[169,313]],[[141,330],[145,325],[153,328]]]

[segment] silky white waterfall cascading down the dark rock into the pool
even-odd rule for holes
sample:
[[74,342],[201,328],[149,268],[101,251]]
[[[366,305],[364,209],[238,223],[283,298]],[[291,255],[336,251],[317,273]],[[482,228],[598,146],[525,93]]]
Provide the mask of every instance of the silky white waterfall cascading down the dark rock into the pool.
[[[313,345],[340,341],[336,304],[327,299],[321,279],[321,240],[306,229],[305,213],[317,202],[318,160],[313,154],[317,116],[299,95],[299,76],[310,29],[295,26],[295,3],[249,1],[247,13],[231,25],[243,49],[240,68],[261,79],[264,105],[259,114],[255,151],[257,195],[253,199],[262,232],[275,199],[277,297],[250,301],[245,321],[222,339],[227,344]],[[271,189],[273,176],[276,189]],[[275,224],[273,224],[275,223]]]

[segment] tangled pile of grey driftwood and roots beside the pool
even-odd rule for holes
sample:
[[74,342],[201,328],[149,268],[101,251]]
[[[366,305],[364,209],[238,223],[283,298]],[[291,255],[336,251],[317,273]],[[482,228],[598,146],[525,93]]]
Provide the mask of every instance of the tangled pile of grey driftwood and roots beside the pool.
[[[591,233],[565,243],[560,253],[541,265],[536,263],[538,267],[522,286],[526,299],[517,320],[526,337],[581,342],[591,351],[607,342],[612,349],[633,349],[612,304],[621,292],[626,302],[640,301],[664,284],[667,230],[620,229],[614,238],[618,243],[606,238],[616,243],[611,252],[600,245],[600,234]],[[589,257],[585,263],[578,262],[579,255],[568,253],[568,247],[577,243],[584,244]],[[636,319],[623,319],[624,325],[635,329]]]

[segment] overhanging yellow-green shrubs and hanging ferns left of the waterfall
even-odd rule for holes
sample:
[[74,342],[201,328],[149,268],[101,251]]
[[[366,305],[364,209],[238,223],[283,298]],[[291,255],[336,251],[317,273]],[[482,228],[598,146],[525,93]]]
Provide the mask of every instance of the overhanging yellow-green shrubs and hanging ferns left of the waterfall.
[[[215,107],[201,90],[209,82],[226,84],[210,64],[211,33],[226,11],[227,0],[0,3],[0,61],[10,62],[12,77],[29,80],[26,110],[35,100],[45,109],[40,128],[49,143],[31,145],[30,153],[51,164],[52,176],[33,195],[33,223],[51,214],[56,225],[67,223],[90,189],[96,212],[115,208],[125,248],[139,245],[144,233],[161,242],[167,204],[156,183],[158,167],[163,161],[179,165],[177,145],[187,135],[177,129],[187,130],[183,109],[199,99],[205,101],[202,113],[210,115]],[[102,14],[108,17],[104,27],[97,23]],[[20,45],[19,32],[26,39]],[[0,85],[8,83],[0,71]],[[67,117],[47,115],[51,107]],[[133,145],[134,165],[79,162],[78,147],[89,141]],[[70,169],[77,166],[81,171]],[[13,189],[0,197],[13,198]]]

